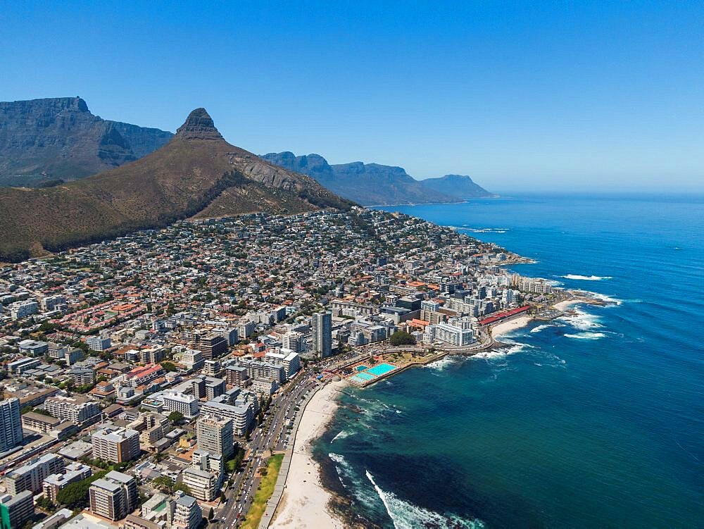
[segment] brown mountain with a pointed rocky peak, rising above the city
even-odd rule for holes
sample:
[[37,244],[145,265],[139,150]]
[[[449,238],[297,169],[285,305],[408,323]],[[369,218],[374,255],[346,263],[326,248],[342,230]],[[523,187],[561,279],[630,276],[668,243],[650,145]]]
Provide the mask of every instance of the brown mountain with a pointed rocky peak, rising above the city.
[[0,189],[0,261],[96,242],[183,218],[348,209],[313,178],[225,141],[196,108],[161,149],[82,180]]

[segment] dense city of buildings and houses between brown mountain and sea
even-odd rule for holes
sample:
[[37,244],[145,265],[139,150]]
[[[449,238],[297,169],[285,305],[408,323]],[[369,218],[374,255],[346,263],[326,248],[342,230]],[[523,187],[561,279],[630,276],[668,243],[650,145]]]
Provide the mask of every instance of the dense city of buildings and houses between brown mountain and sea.
[[0,268],[2,528],[258,527],[308,399],[491,347],[561,295],[504,268],[522,261],[353,207]]

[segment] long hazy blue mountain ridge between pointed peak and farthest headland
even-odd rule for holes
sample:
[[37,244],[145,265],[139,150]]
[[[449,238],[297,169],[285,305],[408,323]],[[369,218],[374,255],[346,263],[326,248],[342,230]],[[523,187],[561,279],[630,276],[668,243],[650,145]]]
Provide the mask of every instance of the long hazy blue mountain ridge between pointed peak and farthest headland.
[[401,167],[360,161],[331,166],[319,154],[296,156],[291,152],[264,154],[262,158],[311,176],[341,197],[365,206],[460,201],[451,194],[425,187]]

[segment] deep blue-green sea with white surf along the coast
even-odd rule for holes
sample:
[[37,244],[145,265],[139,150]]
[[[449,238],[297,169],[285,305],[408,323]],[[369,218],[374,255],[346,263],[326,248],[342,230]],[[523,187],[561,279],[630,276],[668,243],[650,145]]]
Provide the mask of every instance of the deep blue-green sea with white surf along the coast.
[[346,390],[315,454],[353,510],[396,529],[704,527],[704,198],[384,209],[616,304]]

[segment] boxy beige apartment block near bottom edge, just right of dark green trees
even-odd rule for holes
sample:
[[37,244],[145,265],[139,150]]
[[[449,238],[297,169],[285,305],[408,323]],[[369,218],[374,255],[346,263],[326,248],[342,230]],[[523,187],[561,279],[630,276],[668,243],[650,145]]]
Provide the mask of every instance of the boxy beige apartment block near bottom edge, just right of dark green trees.
[[90,510],[109,520],[121,520],[137,506],[137,482],[131,475],[110,471],[89,489]]

